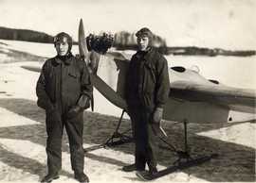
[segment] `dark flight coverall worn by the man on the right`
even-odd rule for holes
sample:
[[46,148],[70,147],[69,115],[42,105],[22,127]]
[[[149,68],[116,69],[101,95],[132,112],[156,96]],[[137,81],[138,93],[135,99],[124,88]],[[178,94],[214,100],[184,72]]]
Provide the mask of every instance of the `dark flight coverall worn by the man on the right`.
[[136,168],[150,171],[156,168],[153,114],[163,108],[168,99],[170,81],[167,60],[155,48],[138,51],[131,59],[127,75],[126,99],[136,141]]

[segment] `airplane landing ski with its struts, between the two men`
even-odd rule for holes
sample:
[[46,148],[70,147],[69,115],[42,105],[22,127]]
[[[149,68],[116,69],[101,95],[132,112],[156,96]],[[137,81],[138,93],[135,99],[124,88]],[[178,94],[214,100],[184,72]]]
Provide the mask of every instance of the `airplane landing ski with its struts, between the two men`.
[[87,147],[83,149],[84,153],[88,153],[97,149],[101,149],[101,148],[107,148],[107,147],[115,147],[124,143],[129,143],[134,141],[134,139],[132,137],[130,137],[129,135],[126,135],[128,132],[131,131],[131,129],[128,129],[122,133],[119,132],[119,127],[121,125],[121,120],[123,117],[125,110],[123,109],[121,112],[121,116],[119,118],[119,124],[116,127],[115,132],[112,134],[112,136],[110,138],[108,138],[105,142],[99,144],[99,145],[93,145],[91,147]]

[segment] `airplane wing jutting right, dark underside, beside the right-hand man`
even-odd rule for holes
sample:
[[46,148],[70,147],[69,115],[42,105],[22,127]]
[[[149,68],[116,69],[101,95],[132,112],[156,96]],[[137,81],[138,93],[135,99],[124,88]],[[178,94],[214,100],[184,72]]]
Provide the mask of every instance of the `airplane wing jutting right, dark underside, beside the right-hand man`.
[[255,91],[252,90],[176,81],[172,83],[170,96],[192,102],[204,101],[233,110],[255,113]]

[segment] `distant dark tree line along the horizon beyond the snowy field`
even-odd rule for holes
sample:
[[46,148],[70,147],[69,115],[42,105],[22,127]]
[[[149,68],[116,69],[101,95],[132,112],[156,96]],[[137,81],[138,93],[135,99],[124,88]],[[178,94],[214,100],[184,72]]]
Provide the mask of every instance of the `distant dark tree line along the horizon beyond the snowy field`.
[[[0,26],[0,39],[26,42],[53,42],[53,36],[48,35],[44,32],[38,32],[27,29],[8,28],[3,26]],[[74,42],[74,44],[78,44],[78,42]],[[153,46],[164,55],[209,57],[214,57],[218,55],[236,57],[247,57],[256,55],[255,50],[224,50],[221,48],[205,48],[197,46],[170,47],[167,46],[165,39],[157,35],[154,35],[153,37]],[[113,47],[115,47],[118,50],[136,50],[137,37],[135,33],[130,33],[127,31],[120,31],[115,33]]]

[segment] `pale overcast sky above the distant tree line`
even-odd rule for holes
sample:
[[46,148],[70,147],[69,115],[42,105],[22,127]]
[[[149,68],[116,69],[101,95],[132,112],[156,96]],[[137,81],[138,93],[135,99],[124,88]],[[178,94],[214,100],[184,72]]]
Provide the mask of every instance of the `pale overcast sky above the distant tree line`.
[[170,46],[256,49],[253,0],[0,0],[0,26],[86,33],[137,31],[142,26]]

